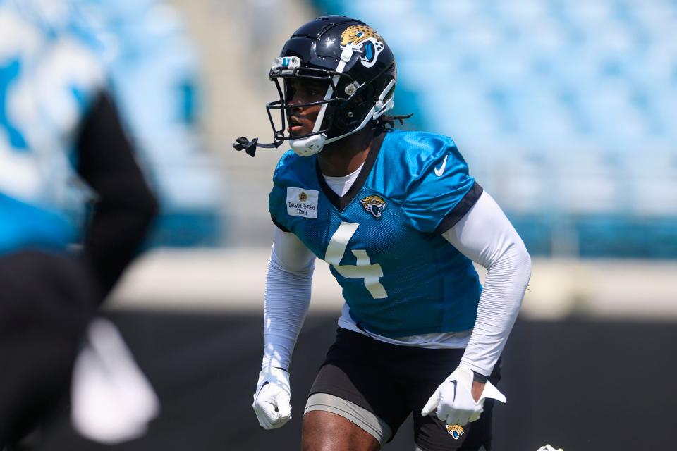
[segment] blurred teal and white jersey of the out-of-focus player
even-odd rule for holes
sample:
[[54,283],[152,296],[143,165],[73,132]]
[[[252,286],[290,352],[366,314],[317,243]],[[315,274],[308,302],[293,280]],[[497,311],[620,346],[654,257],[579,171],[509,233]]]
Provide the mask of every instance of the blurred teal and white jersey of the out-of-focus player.
[[23,3],[0,0],[0,256],[75,240],[88,197],[75,141],[105,80],[65,16]]

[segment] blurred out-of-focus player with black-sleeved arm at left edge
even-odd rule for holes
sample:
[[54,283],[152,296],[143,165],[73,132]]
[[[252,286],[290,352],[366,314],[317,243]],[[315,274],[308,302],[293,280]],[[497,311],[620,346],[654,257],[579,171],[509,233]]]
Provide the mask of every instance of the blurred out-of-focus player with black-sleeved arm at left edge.
[[[0,449],[63,397],[87,324],[156,211],[68,13],[63,1],[0,1]],[[77,180],[95,202],[73,252]]]

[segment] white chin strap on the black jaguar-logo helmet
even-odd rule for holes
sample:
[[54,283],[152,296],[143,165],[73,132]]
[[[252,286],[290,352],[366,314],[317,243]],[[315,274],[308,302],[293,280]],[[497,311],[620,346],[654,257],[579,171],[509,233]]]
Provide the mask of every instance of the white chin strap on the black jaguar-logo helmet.
[[[346,63],[350,61],[350,58],[353,58],[353,46],[347,45],[346,48],[341,51],[341,61],[338,61],[338,66],[336,66],[336,75],[334,75],[333,82],[329,84],[327,88],[327,94],[324,94],[324,100],[328,101],[331,99],[331,95],[334,94],[334,86],[338,85],[338,79],[340,78],[340,73],[343,72],[343,69],[346,68]],[[324,147],[324,144],[329,144],[334,141],[338,141],[341,138],[344,138],[348,135],[352,135],[358,130],[362,130],[369,121],[372,119],[379,118],[383,113],[392,109],[394,106],[394,96],[390,96],[390,99],[384,103],[383,99],[386,98],[389,92],[395,87],[395,80],[390,80],[386,88],[383,90],[381,95],[379,95],[379,100],[372,107],[369,113],[365,115],[364,121],[360,124],[355,130],[346,133],[345,135],[336,136],[333,138],[327,139],[327,135],[324,133],[319,133],[318,135],[312,135],[298,140],[290,140],[289,144],[291,149],[298,156],[311,156],[317,154]],[[318,132],[322,126],[322,121],[324,121],[324,113],[327,111],[328,104],[322,104],[322,108],[317,113],[317,119],[315,119],[315,126],[312,128],[312,132]]]

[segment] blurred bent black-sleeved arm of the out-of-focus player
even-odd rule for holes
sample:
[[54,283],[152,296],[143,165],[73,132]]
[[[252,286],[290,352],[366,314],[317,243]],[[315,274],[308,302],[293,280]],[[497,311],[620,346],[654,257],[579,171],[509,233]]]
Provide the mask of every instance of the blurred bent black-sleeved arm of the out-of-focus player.
[[101,302],[138,251],[157,202],[105,93],[94,101],[80,129],[78,158],[78,173],[98,196],[83,259],[99,281]]

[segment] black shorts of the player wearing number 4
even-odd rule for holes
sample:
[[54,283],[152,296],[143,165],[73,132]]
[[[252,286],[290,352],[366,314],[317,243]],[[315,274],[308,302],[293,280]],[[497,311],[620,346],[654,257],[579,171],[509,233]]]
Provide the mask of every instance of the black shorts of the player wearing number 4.
[[[319,369],[313,393],[329,393],[367,409],[391,428],[393,435],[413,414],[414,440],[425,451],[487,450],[492,443],[493,400],[484,402],[480,419],[463,426],[454,439],[444,421],[422,416],[421,410],[440,383],[456,369],[465,350],[431,350],[391,345],[360,333],[338,328],[336,342]],[[496,364],[489,380],[500,379]]]

